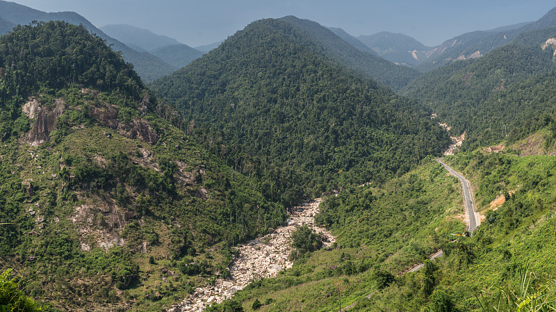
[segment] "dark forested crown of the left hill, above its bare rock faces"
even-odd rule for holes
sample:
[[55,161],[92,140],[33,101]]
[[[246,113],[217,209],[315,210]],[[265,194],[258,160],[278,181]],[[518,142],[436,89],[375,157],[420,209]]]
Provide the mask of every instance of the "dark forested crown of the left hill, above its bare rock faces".
[[83,26],[35,22],[17,26],[0,37],[0,99],[15,92],[26,97],[41,87],[81,85],[120,90],[126,95],[144,88],[133,65]]

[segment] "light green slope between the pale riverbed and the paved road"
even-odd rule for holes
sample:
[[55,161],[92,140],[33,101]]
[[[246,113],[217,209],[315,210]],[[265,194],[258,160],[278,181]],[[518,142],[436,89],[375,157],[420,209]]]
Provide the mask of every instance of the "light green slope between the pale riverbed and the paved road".
[[245,311],[252,311],[255,299],[264,303],[269,298],[272,303],[257,311],[334,311],[340,283],[342,306],[363,300],[377,289],[379,270],[398,274],[432,254],[449,233],[464,230],[455,219],[463,211],[460,186],[446,173],[428,160],[384,187],[355,187],[330,197],[321,209],[339,211],[345,220],[331,227],[337,248],[315,252],[236,298]]

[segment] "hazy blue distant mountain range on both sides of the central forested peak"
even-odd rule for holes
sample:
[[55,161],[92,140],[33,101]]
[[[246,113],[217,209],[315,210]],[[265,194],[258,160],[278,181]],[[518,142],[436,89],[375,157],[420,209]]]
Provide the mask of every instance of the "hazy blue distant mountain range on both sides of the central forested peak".
[[[455,60],[480,58],[493,49],[509,44],[522,33],[556,26],[556,8],[536,22],[464,33],[445,40],[436,47],[427,47],[402,33],[384,31],[355,38],[342,28],[325,28],[316,22],[296,17],[283,19],[312,33],[311,37],[319,42],[329,57],[341,60],[347,67],[376,79],[393,90],[399,90],[418,76],[419,72],[430,72]],[[89,31],[106,40],[107,44],[111,44],[113,49],[122,51],[124,59],[133,63],[138,74],[147,83],[188,65],[222,43],[214,42],[193,48],[174,38],[136,26],[112,24],[97,28],[85,17],[74,12],[46,13],[0,0],[0,35],[17,24],[50,20],[83,24]]]

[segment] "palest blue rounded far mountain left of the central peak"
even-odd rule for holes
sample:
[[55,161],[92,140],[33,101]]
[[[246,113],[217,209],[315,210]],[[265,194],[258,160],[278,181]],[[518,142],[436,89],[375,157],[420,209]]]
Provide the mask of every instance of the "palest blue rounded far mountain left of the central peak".
[[124,42],[129,47],[139,47],[143,51],[152,51],[161,47],[181,44],[174,38],[157,35],[148,29],[126,24],[106,25],[99,28],[106,35]]

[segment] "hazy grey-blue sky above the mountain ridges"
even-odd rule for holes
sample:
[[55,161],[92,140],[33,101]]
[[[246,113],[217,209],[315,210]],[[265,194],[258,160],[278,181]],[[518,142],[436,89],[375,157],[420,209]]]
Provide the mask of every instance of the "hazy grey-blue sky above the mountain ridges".
[[100,27],[131,24],[196,47],[226,39],[256,19],[296,17],[351,35],[404,33],[434,46],[469,31],[534,21],[556,0],[15,0],[74,11]]

